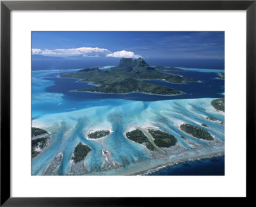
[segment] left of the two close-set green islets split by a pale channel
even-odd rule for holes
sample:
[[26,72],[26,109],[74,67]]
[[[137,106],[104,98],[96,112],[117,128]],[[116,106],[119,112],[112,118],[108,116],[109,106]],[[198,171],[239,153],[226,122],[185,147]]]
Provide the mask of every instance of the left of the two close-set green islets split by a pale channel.
[[130,139],[131,141],[144,144],[148,150],[154,150],[154,146],[148,141],[147,137],[143,132],[141,132],[141,130],[136,129],[131,132],[127,132],[125,135],[127,139]]

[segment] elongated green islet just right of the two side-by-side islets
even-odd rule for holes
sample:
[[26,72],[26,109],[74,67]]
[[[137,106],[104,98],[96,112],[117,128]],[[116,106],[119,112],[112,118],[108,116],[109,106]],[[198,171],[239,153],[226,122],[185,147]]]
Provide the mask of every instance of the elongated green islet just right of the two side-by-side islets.
[[206,139],[212,140],[212,135],[202,128],[196,127],[194,125],[189,125],[188,123],[184,123],[180,125],[180,129],[188,134],[191,134],[193,137],[198,139]]

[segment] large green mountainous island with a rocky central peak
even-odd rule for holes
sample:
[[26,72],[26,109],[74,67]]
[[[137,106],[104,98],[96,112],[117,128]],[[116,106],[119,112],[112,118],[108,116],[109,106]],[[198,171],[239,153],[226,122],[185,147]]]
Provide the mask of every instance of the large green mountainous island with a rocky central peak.
[[163,80],[167,82],[186,84],[198,82],[194,78],[184,78],[180,75],[161,73],[159,70],[181,70],[179,68],[164,68],[149,66],[144,59],[122,58],[120,63],[107,70],[99,68],[84,68],[76,72],[63,73],[60,77],[80,79],[82,82],[99,84],[94,88],[78,89],[77,91],[92,91],[100,93],[151,93],[159,95],[180,95],[183,92],[176,89],[152,84],[143,80]]

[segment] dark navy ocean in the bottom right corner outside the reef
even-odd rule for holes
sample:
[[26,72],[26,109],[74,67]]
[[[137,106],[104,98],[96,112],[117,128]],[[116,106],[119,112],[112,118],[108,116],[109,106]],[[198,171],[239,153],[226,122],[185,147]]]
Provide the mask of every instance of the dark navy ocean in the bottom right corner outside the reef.
[[180,162],[177,165],[172,165],[160,169],[155,173],[147,175],[164,176],[164,175],[178,175],[178,176],[220,176],[225,175],[225,156],[213,158],[203,158],[195,161]]

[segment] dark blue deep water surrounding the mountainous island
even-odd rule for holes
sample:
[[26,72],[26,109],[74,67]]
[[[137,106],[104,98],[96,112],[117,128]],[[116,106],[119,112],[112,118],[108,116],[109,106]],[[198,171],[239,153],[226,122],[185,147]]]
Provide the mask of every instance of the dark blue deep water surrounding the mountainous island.
[[[64,72],[60,72],[64,73]],[[59,74],[60,74],[59,73]],[[90,93],[90,92],[71,92],[70,90],[81,88],[93,88],[92,84],[87,82],[77,82],[77,79],[65,79],[57,77],[56,73],[52,73],[44,77],[49,81],[54,81],[54,86],[46,88],[47,92],[51,93],[63,93],[65,99],[68,100],[99,100],[99,99],[129,99],[139,101],[157,101],[157,100],[170,100],[170,99],[184,99],[184,98],[220,98],[223,97],[225,88],[224,81],[216,79],[218,73],[200,73],[200,72],[173,72],[184,77],[195,77],[200,82],[189,82],[187,84],[172,84],[165,81],[148,81],[154,84],[168,86],[170,88],[177,89],[184,92],[184,95],[179,96],[159,96],[148,95],[141,93],[129,93],[129,94],[106,94],[106,93]]]

